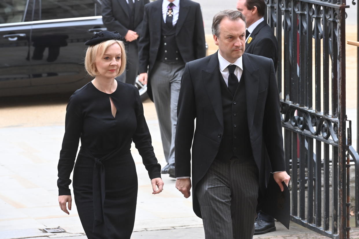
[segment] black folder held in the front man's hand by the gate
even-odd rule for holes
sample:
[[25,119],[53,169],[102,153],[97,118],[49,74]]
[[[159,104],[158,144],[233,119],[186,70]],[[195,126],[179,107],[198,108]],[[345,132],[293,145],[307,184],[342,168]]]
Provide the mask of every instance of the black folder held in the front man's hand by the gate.
[[290,195],[289,188],[283,183],[284,190],[280,191],[279,185],[274,181],[273,173],[270,174],[266,190],[266,196],[262,205],[262,212],[277,219],[289,229]]

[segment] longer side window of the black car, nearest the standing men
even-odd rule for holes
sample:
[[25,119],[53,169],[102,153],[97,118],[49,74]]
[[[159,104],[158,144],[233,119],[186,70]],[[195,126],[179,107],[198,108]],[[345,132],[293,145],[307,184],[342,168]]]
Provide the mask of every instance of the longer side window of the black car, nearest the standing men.
[[[41,0],[36,6],[36,19],[52,20],[62,18],[80,18],[101,15],[99,0]],[[40,8],[40,9],[39,9]]]

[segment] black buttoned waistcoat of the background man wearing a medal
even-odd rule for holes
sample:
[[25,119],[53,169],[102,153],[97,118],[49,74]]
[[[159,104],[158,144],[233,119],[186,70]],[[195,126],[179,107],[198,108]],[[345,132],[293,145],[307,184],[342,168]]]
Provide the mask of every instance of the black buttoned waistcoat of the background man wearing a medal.
[[161,42],[158,49],[157,61],[168,63],[183,62],[176,43],[177,24],[169,28],[163,19],[161,23]]

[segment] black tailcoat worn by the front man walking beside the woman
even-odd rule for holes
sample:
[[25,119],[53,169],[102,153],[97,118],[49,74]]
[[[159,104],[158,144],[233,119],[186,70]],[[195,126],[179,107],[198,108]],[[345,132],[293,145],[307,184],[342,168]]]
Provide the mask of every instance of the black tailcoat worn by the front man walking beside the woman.
[[[264,145],[273,171],[285,171],[279,93],[271,59],[244,53],[243,68],[248,128],[253,157],[259,169],[260,195],[263,195],[266,171],[270,170],[266,167]],[[216,157],[224,129],[220,79],[218,52],[188,62],[178,99],[176,177],[191,175],[190,149],[193,139],[192,197],[194,211],[199,217],[201,212],[195,193],[196,184]]]

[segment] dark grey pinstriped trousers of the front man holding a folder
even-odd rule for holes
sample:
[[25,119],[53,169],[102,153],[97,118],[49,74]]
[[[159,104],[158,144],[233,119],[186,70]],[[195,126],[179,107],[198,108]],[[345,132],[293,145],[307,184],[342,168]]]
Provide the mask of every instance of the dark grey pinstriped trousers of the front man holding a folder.
[[257,217],[254,159],[215,159],[196,186],[206,239],[252,239]]

